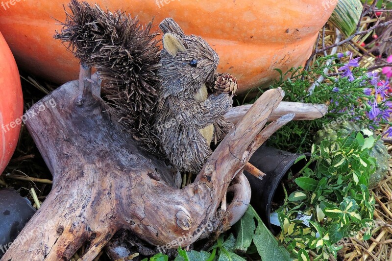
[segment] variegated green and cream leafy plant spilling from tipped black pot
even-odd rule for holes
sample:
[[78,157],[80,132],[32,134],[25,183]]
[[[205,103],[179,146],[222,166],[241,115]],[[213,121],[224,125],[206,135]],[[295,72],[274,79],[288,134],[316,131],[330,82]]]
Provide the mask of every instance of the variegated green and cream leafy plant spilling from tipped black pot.
[[375,142],[373,136],[352,132],[312,146],[307,165],[283,185],[279,240],[289,252],[301,254],[302,260],[310,255],[314,261],[328,260],[337,256],[344,237],[362,230],[363,239],[370,238],[375,201],[368,180],[376,159],[369,153]]

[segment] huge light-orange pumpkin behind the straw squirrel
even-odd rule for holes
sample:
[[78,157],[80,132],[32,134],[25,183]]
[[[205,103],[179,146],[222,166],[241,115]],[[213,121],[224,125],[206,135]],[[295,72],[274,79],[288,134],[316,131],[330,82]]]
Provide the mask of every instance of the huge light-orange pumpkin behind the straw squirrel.
[[[4,1],[5,2],[5,1]],[[12,0],[0,7],[0,30],[20,66],[57,83],[76,79],[78,61],[53,39],[68,0]],[[122,9],[146,24],[172,17],[187,34],[205,38],[245,91],[298,67],[310,56],[332,0],[88,0]],[[8,6],[8,7],[7,7]],[[58,23],[57,23],[58,24]],[[157,27],[156,27],[157,28]],[[157,28],[158,29],[158,28]]]

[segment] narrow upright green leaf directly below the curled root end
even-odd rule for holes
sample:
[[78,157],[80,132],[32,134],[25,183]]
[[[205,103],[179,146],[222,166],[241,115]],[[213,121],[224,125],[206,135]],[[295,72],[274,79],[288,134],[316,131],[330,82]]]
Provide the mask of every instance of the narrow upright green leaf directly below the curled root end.
[[237,241],[235,244],[236,252],[246,252],[250,244],[252,243],[252,236],[256,229],[254,222],[254,216],[251,209],[247,209],[244,216],[235,225],[237,230]]

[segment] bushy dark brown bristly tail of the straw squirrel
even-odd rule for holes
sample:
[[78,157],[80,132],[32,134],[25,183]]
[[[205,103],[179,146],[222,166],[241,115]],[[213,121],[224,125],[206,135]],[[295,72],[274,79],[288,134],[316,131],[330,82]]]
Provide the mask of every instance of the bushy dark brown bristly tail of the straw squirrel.
[[97,69],[112,114],[151,152],[158,88],[159,46],[151,23],[139,24],[123,12],[111,12],[71,0],[70,12],[55,38],[68,43],[74,56]]

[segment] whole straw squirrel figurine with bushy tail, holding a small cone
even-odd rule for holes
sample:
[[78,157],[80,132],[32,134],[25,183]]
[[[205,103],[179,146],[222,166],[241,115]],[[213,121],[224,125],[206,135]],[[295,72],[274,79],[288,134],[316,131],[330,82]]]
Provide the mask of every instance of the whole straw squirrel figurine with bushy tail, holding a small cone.
[[97,69],[113,118],[140,148],[181,172],[198,172],[212,153],[211,142],[232,127],[223,115],[232,107],[234,82],[214,75],[218,54],[171,18],[160,24],[160,50],[152,23],[141,26],[129,14],[77,0],[70,9],[55,38]]

